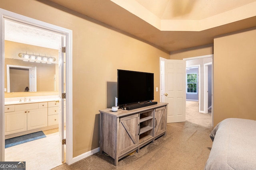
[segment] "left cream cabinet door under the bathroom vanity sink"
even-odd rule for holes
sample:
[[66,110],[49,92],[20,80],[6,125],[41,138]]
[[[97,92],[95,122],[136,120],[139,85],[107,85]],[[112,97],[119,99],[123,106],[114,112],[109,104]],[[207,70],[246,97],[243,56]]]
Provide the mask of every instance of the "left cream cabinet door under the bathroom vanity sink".
[[5,113],[5,135],[27,130],[27,111]]

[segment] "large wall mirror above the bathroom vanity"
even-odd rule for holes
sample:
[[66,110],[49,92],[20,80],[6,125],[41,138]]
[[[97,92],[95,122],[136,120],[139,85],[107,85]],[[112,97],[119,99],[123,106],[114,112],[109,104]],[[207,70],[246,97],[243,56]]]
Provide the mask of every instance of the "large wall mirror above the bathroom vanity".
[[7,92],[56,91],[58,64],[32,63],[7,58],[5,63]]

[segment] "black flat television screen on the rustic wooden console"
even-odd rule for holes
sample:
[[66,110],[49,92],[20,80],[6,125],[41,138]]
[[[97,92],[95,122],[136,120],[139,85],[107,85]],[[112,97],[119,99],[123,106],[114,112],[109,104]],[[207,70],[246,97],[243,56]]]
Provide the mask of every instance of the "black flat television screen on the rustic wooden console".
[[117,70],[118,106],[154,100],[154,73]]

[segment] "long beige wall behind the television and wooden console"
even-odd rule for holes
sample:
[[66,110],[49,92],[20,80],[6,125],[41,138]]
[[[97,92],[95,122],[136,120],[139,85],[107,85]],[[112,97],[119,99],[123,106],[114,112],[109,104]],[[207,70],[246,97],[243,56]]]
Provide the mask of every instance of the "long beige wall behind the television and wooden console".
[[[106,108],[106,82],[117,81],[117,69],[153,72],[155,89],[160,87],[159,57],[169,59],[169,53],[36,0],[8,0],[0,8],[73,31],[74,157],[99,147],[98,110]],[[160,101],[159,91],[154,97]]]

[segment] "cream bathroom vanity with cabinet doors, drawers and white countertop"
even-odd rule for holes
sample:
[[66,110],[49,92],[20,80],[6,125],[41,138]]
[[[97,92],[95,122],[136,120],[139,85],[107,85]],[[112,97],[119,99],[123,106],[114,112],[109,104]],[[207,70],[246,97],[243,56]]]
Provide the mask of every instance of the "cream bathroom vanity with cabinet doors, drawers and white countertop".
[[58,128],[58,106],[57,99],[6,102],[4,106],[5,138]]

